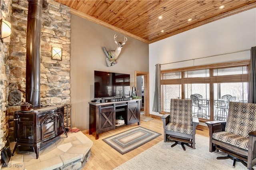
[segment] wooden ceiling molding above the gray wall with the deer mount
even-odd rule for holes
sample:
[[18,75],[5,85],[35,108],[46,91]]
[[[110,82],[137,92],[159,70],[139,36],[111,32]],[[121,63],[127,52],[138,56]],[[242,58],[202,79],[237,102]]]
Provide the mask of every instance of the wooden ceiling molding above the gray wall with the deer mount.
[[87,15],[87,14],[84,14],[84,13],[78,11],[78,10],[74,10],[74,9],[70,8],[70,12],[71,12],[71,14],[74,14],[74,15],[76,15],[76,16],[80,16],[80,17],[82,17],[82,18],[84,18],[84,19],[86,19],[86,20],[89,20],[89,21],[91,21],[91,22],[94,22],[94,23],[99,24],[99,25],[101,25],[101,26],[104,26],[104,27],[106,27],[106,28],[109,28],[109,29],[111,29],[111,30],[114,30],[114,31],[116,31],[116,32],[119,32],[119,33],[121,33],[121,34],[124,34],[125,36],[129,36],[129,37],[131,37],[131,38],[134,38],[134,39],[136,39],[136,40],[139,40],[139,41],[144,42],[144,43],[147,43],[147,44],[149,43],[148,40],[145,40],[145,39],[143,39],[143,38],[140,38],[140,37],[138,37],[138,36],[135,36],[134,34],[131,34],[131,33],[129,33],[129,32],[126,32],[126,31],[124,31],[124,30],[121,30],[121,29],[119,29],[119,28],[117,28],[117,27],[115,27],[115,26],[112,26],[112,25],[110,25],[110,24],[108,24],[108,23],[106,23],[106,22],[103,22],[103,21],[98,20],[98,19],[96,19],[96,18],[94,18],[94,17],[92,17],[92,16],[89,16],[89,15]]

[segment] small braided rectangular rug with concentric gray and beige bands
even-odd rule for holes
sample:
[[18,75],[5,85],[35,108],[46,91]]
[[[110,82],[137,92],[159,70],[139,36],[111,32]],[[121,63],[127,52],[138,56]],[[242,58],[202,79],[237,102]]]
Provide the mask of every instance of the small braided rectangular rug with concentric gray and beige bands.
[[158,132],[143,127],[136,127],[102,140],[120,154],[126,154],[160,135]]

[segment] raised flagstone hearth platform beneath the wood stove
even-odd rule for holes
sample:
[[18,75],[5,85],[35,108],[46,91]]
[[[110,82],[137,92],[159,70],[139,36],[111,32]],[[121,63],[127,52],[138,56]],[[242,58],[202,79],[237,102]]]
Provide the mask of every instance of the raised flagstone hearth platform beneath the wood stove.
[[[13,150],[15,142],[10,144]],[[36,159],[34,152],[15,151],[11,157],[8,167],[2,167],[2,170],[78,170],[86,164],[90,157],[90,148],[93,142],[82,132],[68,133],[60,136],[56,142],[52,142],[39,152],[39,158]]]

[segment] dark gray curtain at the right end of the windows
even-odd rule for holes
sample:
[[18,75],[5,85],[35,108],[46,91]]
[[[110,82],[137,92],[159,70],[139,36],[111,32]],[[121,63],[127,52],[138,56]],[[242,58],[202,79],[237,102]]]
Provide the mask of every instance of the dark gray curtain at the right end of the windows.
[[251,48],[251,69],[248,102],[256,103],[256,47]]

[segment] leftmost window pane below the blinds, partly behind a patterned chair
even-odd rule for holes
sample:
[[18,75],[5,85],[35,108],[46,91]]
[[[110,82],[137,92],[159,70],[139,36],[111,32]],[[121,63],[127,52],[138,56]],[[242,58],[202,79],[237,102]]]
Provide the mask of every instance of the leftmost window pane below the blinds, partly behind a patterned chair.
[[181,85],[162,85],[162,112],[170,112],[171,99],[181,98]]

